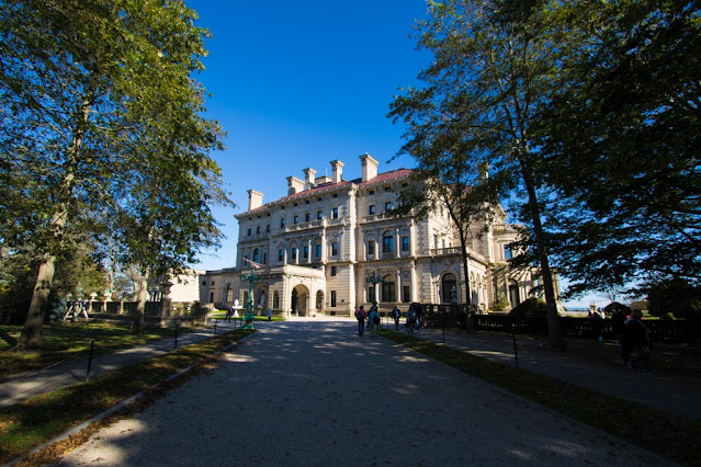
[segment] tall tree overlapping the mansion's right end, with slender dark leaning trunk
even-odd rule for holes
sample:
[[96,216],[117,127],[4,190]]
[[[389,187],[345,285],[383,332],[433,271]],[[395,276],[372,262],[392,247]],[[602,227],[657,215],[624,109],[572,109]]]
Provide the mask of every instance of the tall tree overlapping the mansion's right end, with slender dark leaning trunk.
[[473,168],[488,163],[498,180],[510,175],[512,185],[522,190],[549,308],[550,345],[555,349],[564,341],[531,126],[539,105],[553,92],[552,78],[565,53],[559,7],[547,0],[431,1],[429,19],[418,26],[418,44],[433,54],[433,62],[419,75],[425,87],[396,98],[391,113],[407,123],[410,153],[411,147],[432,145],[448,134],[455,161]]

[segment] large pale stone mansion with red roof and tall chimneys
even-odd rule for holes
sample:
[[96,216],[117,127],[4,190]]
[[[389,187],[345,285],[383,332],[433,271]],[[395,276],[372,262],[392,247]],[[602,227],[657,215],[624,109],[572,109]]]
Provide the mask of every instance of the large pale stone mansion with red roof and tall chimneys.
[[[408,169],[377,173],[377,161],[360,156],[362,175],[346,180],[343,163],[333,160],[331,176],[305,169],[304,180],[287,178],[287,195],[263,204],[263,193],[248,191],[248,209],[239,223],[235,267],[200,275],[200,301],[218,307],[249,299],[246,260],[262,267],[253,272],[253,306],[275,315],[349,316],[373,298],[381,310],[395,305],[406,311],[412,301],[450,303],[470,284],[472,301],[486,312],[495,301],[511,306],[528,298],[535,285],[531,272],[507,267],[516,230],[497,217],[468,253],[470,277],[462,269],[459,236],[446,213],[422,220],[392,215],[397,192],[406,185]],[[500,224],[499,224],[500,223]],[[484,224],[471,226],[483,231]]]

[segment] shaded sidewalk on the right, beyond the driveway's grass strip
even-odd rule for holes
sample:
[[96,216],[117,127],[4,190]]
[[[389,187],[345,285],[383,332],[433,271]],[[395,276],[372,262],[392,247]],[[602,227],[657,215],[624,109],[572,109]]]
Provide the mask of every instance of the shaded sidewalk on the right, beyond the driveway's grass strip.
[[[404,324],[404,323],[402,323]],[[394,327],[389,328],[394,329]],[[404,326],[400,331],[404,332]],[[443,342],[440,329],[421,329],[411,335]],[[445,330],[445,345],[471,354],[516,366],[513,339],[510,334]],[[546,338],[543,338],[546,339]],[[657,375],[636,373],[615,361],[589,361],[574,353],[541,350],[538,340],[518,335],[519,368],[562,379],[576,386],[615,396],[651,408],[701,420],[701,378],[659,372]]]

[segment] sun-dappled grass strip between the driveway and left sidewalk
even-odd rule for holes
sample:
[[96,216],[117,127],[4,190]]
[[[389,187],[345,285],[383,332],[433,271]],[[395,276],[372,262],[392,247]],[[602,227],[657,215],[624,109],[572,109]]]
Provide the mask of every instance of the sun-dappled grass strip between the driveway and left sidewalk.
[[[146,397],[134,403],[140,409],[162,391],[213,367],[218,356],[214,354],[253,331],[235,330],[203,342],[184,346],[169,354],[117,369],[99,378],[56,390],[0,410],[0,463],[26,455],[34,447],[46,443],[74,426],[99,415],[118,402],[144,392]],[[168,377],[188,367],[192,369],[180,378]],[[156,387],[156,385],[158,385]],[[50,464],[71,446],[82,443],[92,432],[124,417],[125,411],[94,422],[89,429],[55,443],[32,455],[27,465]]]

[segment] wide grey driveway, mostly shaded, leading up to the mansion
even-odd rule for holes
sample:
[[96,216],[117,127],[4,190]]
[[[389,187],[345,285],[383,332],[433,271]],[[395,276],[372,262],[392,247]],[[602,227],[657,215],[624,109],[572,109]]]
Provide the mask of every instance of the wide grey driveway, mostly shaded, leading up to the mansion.
[[353,321],[257,327],[61,465],[671,465]]

